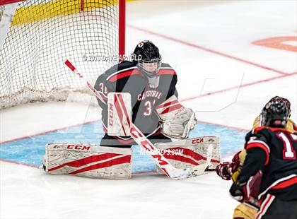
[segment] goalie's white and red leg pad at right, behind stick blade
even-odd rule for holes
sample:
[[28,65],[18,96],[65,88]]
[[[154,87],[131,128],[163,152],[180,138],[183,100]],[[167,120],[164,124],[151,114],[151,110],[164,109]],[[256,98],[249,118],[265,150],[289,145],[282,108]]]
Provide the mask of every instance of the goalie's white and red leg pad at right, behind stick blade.
[[[212,146],[209,169],[214,170],[221,160],[219,137],[204,136],[170,143],[156,143],[156,148],[179,169],[204,165],[209,158],[207,154],[209,146]],[[158,167],[157,172],[162,173]]]

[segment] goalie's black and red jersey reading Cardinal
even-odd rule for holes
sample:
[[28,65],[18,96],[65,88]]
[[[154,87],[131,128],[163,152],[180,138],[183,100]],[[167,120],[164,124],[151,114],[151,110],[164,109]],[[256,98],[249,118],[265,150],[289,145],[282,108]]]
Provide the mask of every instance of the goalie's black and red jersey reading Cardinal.
[[141,73],[130,61],[122,61],[100,75],[95,83],[103,100],[99,105],[103,109],[103,125],[107,127],[107,93],[130,93],[132,97],[132,122],[145,134],[151,134],[159,128],[156,107],[170,96],[177,96],[175,85],[177,75],[169,64],[162,64],[156,76],[148,77]]

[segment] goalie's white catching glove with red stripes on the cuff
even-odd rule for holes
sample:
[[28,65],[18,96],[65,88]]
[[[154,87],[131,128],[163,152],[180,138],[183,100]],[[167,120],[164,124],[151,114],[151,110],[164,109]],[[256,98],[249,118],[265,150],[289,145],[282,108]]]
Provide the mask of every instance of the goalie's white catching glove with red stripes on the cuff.
[[175,95],[158,105],[157,112],[162,133],[169,138],[187,138],[197,123],[193,110],[182,106]]

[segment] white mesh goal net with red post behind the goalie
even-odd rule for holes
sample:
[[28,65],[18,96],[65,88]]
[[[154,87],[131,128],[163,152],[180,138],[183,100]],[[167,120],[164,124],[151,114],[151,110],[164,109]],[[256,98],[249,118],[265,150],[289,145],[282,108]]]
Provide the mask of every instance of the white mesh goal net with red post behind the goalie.
[[[13,4],[16,12],[7,19]],[[117,64],[124,55],[125,4],[125,0],[0,0],[1,109],[66,100],[70,92],[88,93],[64,61],[71,60],[93,84]]]

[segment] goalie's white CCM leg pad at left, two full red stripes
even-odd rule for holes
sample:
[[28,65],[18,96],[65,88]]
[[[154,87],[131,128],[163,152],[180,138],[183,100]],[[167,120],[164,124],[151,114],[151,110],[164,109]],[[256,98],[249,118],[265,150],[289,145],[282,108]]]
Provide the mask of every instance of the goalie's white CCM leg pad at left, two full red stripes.
[[130,179],[132,149],[49,143],[43,168],[50,174],[100,179]]

